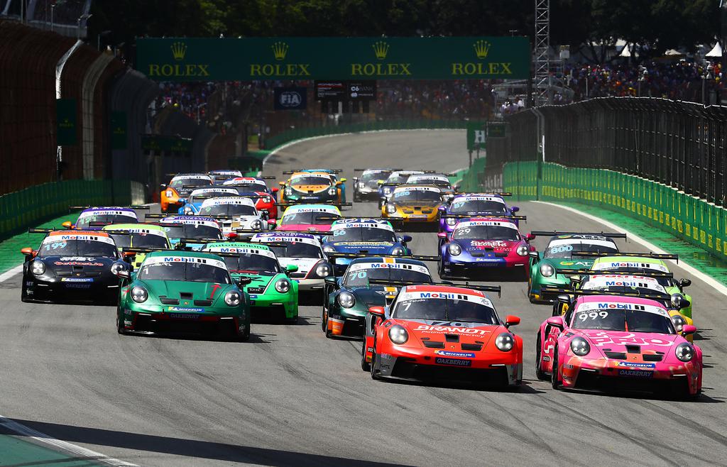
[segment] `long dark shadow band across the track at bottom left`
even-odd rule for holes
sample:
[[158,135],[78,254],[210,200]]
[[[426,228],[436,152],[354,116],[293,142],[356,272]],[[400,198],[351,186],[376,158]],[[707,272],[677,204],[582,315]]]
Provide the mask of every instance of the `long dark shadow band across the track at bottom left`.
[[[49,437],[65,442],[96,444],[99,446],[120,447],[134,451],[148,451],[160,454],[180,455],[190,458],[222,460],[227,462],[249,463],[259,466],[393,466],[395,464],[369,462],[329,455],[307,454],[265,449],[262,447],[226,444],[196,439],[152,436],[148,434],[113,431],[84,426],[61,425],[41,421],[18,420],[34,430]],[[23,436],[19,436],[22,438]],[[132,459],[132,461],[134,461]]]

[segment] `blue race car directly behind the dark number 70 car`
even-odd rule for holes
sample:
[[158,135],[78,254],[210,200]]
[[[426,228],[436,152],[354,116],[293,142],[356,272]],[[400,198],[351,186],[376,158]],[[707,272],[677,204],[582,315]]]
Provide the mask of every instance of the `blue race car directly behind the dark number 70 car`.
[[[329,235],[322,240],[324,253],[411,256],[406,246],[411,237],[399,237],[392,224],[383,219],[353,217],[334,221]],[[338,259],[334,264],[335,274],[342,275],[349,263],[350,259]]]

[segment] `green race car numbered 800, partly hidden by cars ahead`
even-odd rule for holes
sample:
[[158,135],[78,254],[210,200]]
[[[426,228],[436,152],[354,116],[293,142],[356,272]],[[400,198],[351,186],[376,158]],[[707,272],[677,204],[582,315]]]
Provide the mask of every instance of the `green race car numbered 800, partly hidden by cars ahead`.
[[557,296],[542,293],[543,286],[567,287],[570,280],[566,275],[556,274],[556,269],[588,269],[593,258],[579,256],[579,252],[618,253],[614,238],[625,238],[619,233],[577,233],[577,232],[531,232],[539,237],[549,236],[547,247],[542,252],[530,253],[530,274],[528,276],[528,297],[531,303],[552,304]]

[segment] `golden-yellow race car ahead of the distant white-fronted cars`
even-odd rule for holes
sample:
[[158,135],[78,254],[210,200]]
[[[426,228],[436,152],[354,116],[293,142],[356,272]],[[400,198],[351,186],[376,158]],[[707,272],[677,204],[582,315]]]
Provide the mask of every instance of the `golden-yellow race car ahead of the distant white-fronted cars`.
[[436,230],[442,203],[442,192],[434,185],[401,185],[387,196],[382,204],[381,215],[384,218],[401,219],[411,227],[432,227]]

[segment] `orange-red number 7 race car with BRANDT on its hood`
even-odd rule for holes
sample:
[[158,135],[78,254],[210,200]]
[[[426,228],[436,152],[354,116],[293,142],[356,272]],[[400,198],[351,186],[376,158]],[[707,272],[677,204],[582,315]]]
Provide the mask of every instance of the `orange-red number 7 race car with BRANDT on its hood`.
[[499,293],[500,288],[406,285],[390,306],[371,306],[362,369],[374,379],[520,386],[523,338],[509,329],[520,318],[507,316],[502,322],[483,291]]

